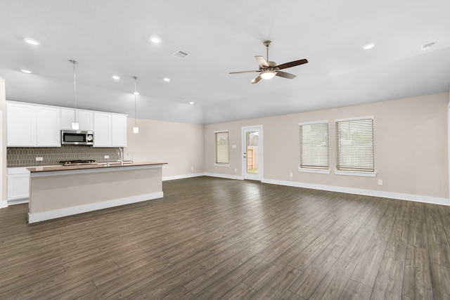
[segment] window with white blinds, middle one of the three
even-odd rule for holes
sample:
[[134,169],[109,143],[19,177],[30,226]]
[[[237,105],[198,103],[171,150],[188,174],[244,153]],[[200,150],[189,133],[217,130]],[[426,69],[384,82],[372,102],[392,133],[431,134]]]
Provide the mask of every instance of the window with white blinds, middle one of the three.
[[328,169],[328,121],[299,123],[300,168]]

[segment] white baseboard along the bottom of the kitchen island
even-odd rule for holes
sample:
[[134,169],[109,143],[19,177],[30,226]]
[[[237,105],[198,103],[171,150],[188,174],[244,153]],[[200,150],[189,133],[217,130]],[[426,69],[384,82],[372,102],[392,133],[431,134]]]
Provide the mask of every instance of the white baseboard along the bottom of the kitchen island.
[[28,213],[28,223],[36,223],[40,221],[46,221],[51,219],[61,218],[63,216],[72,216],[74,214],[82,214],[88,211],[95,211],[99,209],[107,209],[110,207],[118,207],[125,204],[131,204],[136,202],[143,202],[147,200],[153,200],[162,198],[163,192],[156,192],[144,195],[137,195],[132,197],[124,197],[115,200],[108,200],[103,202],[96,202],[92,204],[79,205],[77,207],[68,207],[64,209],[55,209],[53,211],[45,211],[37,214]]

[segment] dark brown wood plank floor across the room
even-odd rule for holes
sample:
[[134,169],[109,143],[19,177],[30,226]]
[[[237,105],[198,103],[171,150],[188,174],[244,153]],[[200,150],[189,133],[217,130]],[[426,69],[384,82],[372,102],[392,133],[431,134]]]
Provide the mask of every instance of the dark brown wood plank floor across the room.
[[252,181],[29,225],[0,209],[0,299],[450,299],[450,207]]

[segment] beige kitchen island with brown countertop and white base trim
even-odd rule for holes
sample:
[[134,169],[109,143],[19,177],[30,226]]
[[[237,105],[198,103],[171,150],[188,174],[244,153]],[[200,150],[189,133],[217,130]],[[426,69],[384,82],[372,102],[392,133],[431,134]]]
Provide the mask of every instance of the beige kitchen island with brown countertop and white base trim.
[[163,197],[165,162],[32,167],[28,223]]

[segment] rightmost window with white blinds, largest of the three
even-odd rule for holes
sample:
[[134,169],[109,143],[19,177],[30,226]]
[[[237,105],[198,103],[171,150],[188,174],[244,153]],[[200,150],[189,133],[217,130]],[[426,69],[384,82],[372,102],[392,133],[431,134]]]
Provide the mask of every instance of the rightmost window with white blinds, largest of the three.
[[336,120],[336,169],[375,171],[373,117]]

